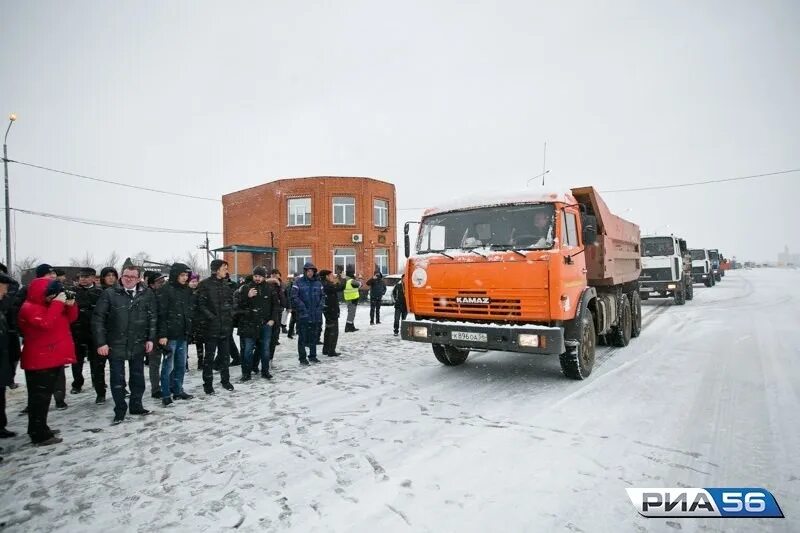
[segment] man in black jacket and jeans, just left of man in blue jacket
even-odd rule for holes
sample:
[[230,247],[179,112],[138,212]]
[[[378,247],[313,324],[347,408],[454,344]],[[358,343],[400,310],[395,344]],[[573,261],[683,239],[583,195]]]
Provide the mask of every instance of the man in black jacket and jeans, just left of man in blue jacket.
[[272,328],[277,329],[281,319],[281,302],[274,283],[267,283],[267,269],[253,269],[253,280],[245,283],[239,294],[236,309],[239,319],[239,336],[242,339],[242,383],[250,381],[253,357],[261,363],[261,377],[271,379],[269,353]]

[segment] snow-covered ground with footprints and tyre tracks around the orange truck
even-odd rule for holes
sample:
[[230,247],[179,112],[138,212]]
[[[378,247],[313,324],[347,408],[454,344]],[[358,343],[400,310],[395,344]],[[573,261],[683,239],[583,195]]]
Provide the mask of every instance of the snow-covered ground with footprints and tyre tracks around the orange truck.
[[[8,391],[0,523],[12,531],[798,531],[800,272],[737,271],[684,307],[644,303],[644,330],[600,348],[590,379],[557,358],[473,354],[446,368],[384,324],[344,357],[218,387],[111,427],[69,396],[64,443],[24,435]],[[233,370],[238,378],[239,371]],[[21,376],[19,381],[24,381]],[[88,369],[87,369],[88,378]],[[88,379],[87,379],[88,381]],[[109,399],[110,400],[110,399]],[[765,487],[783,520],[645,519],[626,487]],[[2,525],[0,525],[2,528]]]

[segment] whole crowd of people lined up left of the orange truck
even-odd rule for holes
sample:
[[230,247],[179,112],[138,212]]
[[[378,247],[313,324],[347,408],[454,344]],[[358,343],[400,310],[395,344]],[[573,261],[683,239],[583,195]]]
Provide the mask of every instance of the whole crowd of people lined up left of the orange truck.
[[[193,398],[184,390],[189,344],[196,346],[203,392],[211,395],[216,392],[215,373],[223,389],[234,390],[231,366],[241,365],[241,383],[258,376],[272,379],[281,334],[297,336],[302,366],[320,363],[318,345],[322,355],[340,356],[340,296],[347,306],[345,332],[359,331],[356,311],[365,289],[370,324],[381,323],[387,288],[380,272],[364,283],[354,269],[342,275],[340,269],[318,271],[306,263],[302,273],[285,283],[279,270],[258,266],[237,283],[228,268],[227,262],[215,259],[211,275],[200,280],[182,263],[174,263],[169,276],[134,265],[125,266],[121,275],[106,267],[98,276],[87,267],[70,283],[64,272],[41,264],[35,279],[20,286],[0,264],[0,439],[16,436],[7,429],[5,396],[6,388],[17,387],[17,365],[25,373],[28,401],[21,414],[28,416],[28,435],[35,445],[46,446],[62,442],[47,420],[53,400],[56,409],[68,407],[66,367],[71,367],[70,392],[79,394],[88,363],[95,403],[103,404],[108,366],[116,425],[129,414],[150,414],[143,404],[145,367],[151,395],[163,407]],[[394,286],[393,297],[397,336],[407,314],[403,280]]]

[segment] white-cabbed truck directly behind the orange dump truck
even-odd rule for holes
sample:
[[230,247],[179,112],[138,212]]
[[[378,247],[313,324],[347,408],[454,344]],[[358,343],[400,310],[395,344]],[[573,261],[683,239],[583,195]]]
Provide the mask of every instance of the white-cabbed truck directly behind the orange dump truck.
[[692,258],[686,241],[674,235],[642,237],[642,274],[639,295],[673,298],[683,305],[694,298]]

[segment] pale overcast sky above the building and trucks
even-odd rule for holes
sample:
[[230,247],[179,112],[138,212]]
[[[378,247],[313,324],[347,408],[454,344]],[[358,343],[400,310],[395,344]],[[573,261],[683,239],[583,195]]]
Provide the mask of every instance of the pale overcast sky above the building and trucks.
[[[279,177],[372,176],[396,184],[402,222],[525,187],[545,141],[548,189],[800,168],[793,0],[0,8],[0,112],[19,117],[9,158],[91,176],[212,197]],[[10,174],[12,207],[221,231],[214,202]],[[775,260],[784,245],[800,252],[799,184],[794,173],[605,198],[645,232]],[[53,264],[87,250],[183,256],[202,240],[15,219],[15,257]]]

